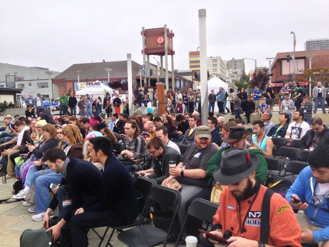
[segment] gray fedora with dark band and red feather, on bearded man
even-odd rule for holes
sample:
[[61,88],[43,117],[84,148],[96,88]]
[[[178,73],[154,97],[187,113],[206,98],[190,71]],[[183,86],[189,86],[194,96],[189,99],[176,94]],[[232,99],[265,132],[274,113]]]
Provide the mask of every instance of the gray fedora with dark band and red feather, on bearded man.
[[222,153],[221,165],[216,168],[213,177],[221,184],[234,184],[247,178],[259,163],[254,154],[246,148],[231,148]]

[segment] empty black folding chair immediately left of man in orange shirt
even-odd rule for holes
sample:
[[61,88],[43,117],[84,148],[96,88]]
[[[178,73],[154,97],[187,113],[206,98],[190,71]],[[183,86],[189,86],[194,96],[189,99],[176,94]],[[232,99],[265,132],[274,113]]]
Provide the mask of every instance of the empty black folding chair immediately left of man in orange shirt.
[[[194,217],[198,220],[206,221],[206,223],[209,222],[212,223],[213,221],[212,217],[215,215],[217,208],[218,208],[218,204],[216,203],[207,201],[202,198],[195,199],[189,206],[189,209],[187,211],[187,216],[184,220],[183,225],[181,226],[181,230],[179,232],[178,238],[174,246],[176,247],[178,244],[179,238],[181,236],[181,233],[183,231],[183,228],[186,224],[188,217]],[[197,246],[202,246],[202,245],[198,244]]]

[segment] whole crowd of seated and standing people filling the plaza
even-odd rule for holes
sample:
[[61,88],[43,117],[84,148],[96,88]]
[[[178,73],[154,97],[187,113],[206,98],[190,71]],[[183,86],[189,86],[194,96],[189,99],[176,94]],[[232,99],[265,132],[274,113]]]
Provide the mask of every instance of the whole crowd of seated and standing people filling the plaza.
[[[227,231],[231,232],[228,241],[234,246],[301,246],[302,242],[329,246],[326,220],[329,129],[320,117],[308,114],[309,108],[311,113],[314,111],[307,105],[308,98],[304,96],[304,103],[297,109],[296,100],[293,102],[285,92],[279,123],[275,125],[271,122],[272,102],[261,101],[256,107],[253,97],[261,97],[257,89],[248,96],[244,90],[227,94],[220,88],[209,96],[215,95],[216,101],[220,97],[218,109],[224,112],[227,94],[234,102],[235,118],[226,122],[223,114],[215,115],[209,101],[209,116],[206,125],[202,125],[200,102],[196,102],[200,91],[191,90],[170,92],[161,116],[152,113],[130,116],[115,108],[115,113],[108,111],[109,122],[106,114],[98,115],[98,112],[76,117],[72,111],[71,115],[53,118],[35,103],[27,105],[27,111],[32,112],[31,108],[36,106],[40,118],[35,118],[35,113],[27,117],[5,116],[6,127],[0,132],[2,174],[23,184],[13,199],[23,200],[22,205],[35,213],[32,220],[42,221],[43,227],[50,226],[54,210],[59,207],[57,224],[47,230],[52,230],[53,240],[87,246],[88,228],[135,221],[138,207],[133,181],[138,176],[159,185],[169,185],[174,180],[180,184],[180,226],[192,201],[196,198],[210,201],[213,186],[220,183],[226,188],[218,198],[221,206],[214,215],[211,233],[223,237]],[[176,94],[181,96],[176,98]],[[68,101],[65,97],[63,102]],[[119,104],[107,97],[103,104]],[[136,98],[139,103],[141,97]],[[80,101],[83,109],[90,111],[87,105],[93,103],[93,97],[86,95]],[[245,122],[238,117],[240,108],[246,118],[247,112],[258,108],[261,120],[252,122],[251,129],[245,128]],[[278,194],[267,198],[268,188],[264,186],[267,177],[264,156],[273,156],[272,137],[286,138],[288,144],[298,139],[301,150],[312,151],[309,166],[300,173],[286,198]],[[175,162],[176,166],[170,167],[169,162]],[[52,199],[51,184],[55,185]],[[25,201],[31,190],[34,202]],[[266,226],[269,234],[265,242],[260,238],[260,228],[264,226],[259,227],[264,198],[270,204],[270,221]],[[304,214],[294,214],[293,209]],[[200,224],[194,222],[185,227],[183,239],[197,236]],[[204,238],[199,239],[204,246],[217,243],[205,235]]]

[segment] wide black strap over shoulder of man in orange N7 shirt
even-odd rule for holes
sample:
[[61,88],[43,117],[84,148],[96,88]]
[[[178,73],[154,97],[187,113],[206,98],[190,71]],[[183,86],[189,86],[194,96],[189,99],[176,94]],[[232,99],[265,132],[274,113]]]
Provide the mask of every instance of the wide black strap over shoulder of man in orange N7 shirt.
[[260,241],[264,244],[268,242],[269,235],[269,209],[270,209],[270,200],[273,195],[271,189],[266,189],[265,195],[262,202],[262,215],[261,215],[261,237]]

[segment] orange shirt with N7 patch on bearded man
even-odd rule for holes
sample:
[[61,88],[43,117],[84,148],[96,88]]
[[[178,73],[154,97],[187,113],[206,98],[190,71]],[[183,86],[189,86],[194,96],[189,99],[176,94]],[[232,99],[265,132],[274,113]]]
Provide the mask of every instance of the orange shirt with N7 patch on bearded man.
[[[255,195],[247,200],[241,201],[241,219],[240,225],[244,223],[243,237],[260,241],[260,223],[263,197],[267,187],[261,185],[256,199],[252,203],[250,210],[248,208]],[[239,208],[235,198],[228,187],[223,190],[220,199],[220,207],[213,216],[213,224],[222,225],[223,233],[226,230],[232,232],[232,236],[242,237],[239,226]],[[248,211],[248,212],[247,212]],[[247,217],[246,214],[248,213]],[[245,219],[246,218],[246,219]],[[301,246],[301,230],[298,225],[293,209],[289,203],[278,193],[274,193],[270,200],[270,219],[269,219],[268,244],[273,246]],[[217,227],[218,228],[218,227]]]

